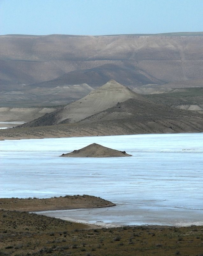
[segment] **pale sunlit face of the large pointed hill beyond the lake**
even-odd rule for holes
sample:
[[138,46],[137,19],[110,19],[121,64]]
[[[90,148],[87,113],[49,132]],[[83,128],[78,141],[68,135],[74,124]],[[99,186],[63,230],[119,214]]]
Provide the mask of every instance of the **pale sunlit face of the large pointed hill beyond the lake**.
[[21,127],[55,125],[60,123],[76,123],[88,116],[97,114],[108,108],[124,102],[129,98],[149,102],[146,98],[121,85],[115,80],[110,80],[103,86],[91,91],[87,96],[77,100],[62,109],[46,114],[36,120],[30,121]]

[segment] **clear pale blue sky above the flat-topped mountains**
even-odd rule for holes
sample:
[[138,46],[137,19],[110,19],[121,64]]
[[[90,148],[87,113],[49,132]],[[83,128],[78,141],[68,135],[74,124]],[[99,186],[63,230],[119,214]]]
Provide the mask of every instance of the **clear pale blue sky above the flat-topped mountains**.
[[0,35],[203,31],[203,0],[0,0]]

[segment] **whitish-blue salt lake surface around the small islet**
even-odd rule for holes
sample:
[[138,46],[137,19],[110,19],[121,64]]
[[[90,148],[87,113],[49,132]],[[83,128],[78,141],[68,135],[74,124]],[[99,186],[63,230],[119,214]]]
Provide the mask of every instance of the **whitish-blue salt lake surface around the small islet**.
[[[84,223],[203,225],[203,133],[0,141],[0,198],[94,195],[115,207],[43,212]],[[132,157],[62,158],[91,143]]]

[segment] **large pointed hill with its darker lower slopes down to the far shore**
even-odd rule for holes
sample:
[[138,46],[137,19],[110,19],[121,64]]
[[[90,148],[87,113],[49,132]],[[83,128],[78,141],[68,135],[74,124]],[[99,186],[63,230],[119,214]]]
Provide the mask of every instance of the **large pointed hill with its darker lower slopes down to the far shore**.
[[0,130],[0,138],[202,132],[202,100],[202,88],[140,95],[110,80],[80,100],[17,128]]

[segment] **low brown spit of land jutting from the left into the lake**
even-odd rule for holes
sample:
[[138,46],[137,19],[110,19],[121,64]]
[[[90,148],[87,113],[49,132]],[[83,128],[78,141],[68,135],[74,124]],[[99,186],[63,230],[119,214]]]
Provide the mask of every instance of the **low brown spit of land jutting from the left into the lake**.
[[65,197],[53,198],[0,198],[0,209],[21,212],[101,208],[110,206],[115,206],[115,204],[105,199],[88,195],[67,195]]

